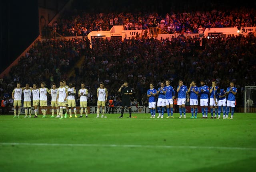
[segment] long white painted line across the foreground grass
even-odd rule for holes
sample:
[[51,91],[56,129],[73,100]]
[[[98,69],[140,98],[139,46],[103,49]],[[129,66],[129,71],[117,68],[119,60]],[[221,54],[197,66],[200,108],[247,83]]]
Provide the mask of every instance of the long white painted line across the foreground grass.
[[200,146],[168,146],[168,145],[100,145],[100,144],[62,144],[62,143],[0,143],[0,145],[20,146],[71,146],[71,147],[140,147],[140,148],[168,148],[168,149],[226,149],[256,151],[256,148],[246,147],[200,147]]

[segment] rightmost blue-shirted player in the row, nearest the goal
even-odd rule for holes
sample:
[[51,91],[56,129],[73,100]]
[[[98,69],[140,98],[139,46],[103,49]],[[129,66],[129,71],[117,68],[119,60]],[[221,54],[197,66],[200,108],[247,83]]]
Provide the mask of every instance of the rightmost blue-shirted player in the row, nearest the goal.
[[234,87],[234,82],[230,82],[230,87],[227,88],[228,101],[227,101],[227,109],[226,109],[226,118],[228,118],[228,113],[230,112],[229,109],[231,108],[230,119],[233,119],[235,106],[236,106],[236,93],[237,93],[237,88]]

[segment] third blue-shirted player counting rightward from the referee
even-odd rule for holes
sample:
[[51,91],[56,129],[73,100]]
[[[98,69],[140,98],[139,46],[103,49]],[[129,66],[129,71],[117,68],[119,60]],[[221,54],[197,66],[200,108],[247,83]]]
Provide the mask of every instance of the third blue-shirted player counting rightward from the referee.
[[[173,118],[173,99],[175,98],[175,91],[172,86],[170,86],[170,80],[166,80],[165,87],[163,90],[165,94],[166,100],[166,111],[167,117],[166,118]],[[171,116],[170,116],[170,107],[171,107]]]

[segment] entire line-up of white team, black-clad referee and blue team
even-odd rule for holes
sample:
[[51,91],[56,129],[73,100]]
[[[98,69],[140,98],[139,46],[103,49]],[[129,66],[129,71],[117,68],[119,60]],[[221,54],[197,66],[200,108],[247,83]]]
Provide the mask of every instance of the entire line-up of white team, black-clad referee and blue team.
[[[187,88],[183,84],[182,80],[179,80],[179,85],[177,86],[177,105],[179,106],[179,118],[186,118],[186,109],[185,103],[190,103],[191,107],[191,117],[197,118],[198,113],[198,97],[200,98],[200,106],[202,108],[202,118],[208,118],[208,104],[210,96],[210,113],[211,118],[220,119],[221,108],[223,108],[223,119],[233,119],[234,108],[236,105],[236,93],[237,88],[234,87],[234,82],[230,82],[230,87],[226,89],[219,88],[216,86],[216,82],[212,81],[212,86],[210,88],[205,85],[204,81],[200,81],[201,86],[196,86],[196,82],[192,81],[190,87]],[[34,117],[38,117],[38,106],[40,105],[43,116],[46,117],[47,110],[47,94],[51,94],[51,107],[52,107],[52,118],[54,117],[54,109],[56,109],[57,118],[63,119],[67,118],[67,110],[69,111],[70,117],[72,117],[72,109],[74,111],[75,117],[77,117],[76,111],[76,102],[75,95],[76,89],[72,87],[72,84],[69,86],[66,85],[66,81],[60,81],[60,87],[56,88],[56,84],[52,84],[50,90],[46,88],[44,82],[40,83],[41,88],[37,88],[36,84],[33,84],[33,87],[29,87],[29,84],[26,84],[24,88],[21,88],[20,83],[17,83],[16,88],[12,92],[12,98],[14,99],[14,117],[19,117],[22,92],[24,94],[24,108],[25,108],[25,117],[31,117],[31,94],[33,107],[35,109]],[[122,95],[122,109],[120,118],[123,117],[124,107],[127,106],[129,110],[129,117],[132,117],[132,110],[130,105],[130,95],[133,94],[132,88],[128,86],[128,82],[124,82],[119,88],[118,92]],[[80,116],[82,117],[85,112],[85,117],[88,117],[87,111],[87,95],[88,90],[85,88],[85,84],[81,83],[81,89],[78,91],[78,97],[80,98]],[[153,84],[150,84],[150,89],[147,91],[148,96],[148,108],[150,108],[151,118],[156,117],[156,107],[158,110],[158,117],[163,118],[164,109],[166,107],[168,116],[166,118],[173,118],[173,100],[175,98],[175,91],[172,86],[170,86],[170,80],[161,82],[160,87],[156,90]],[[106,101],[108,99],[108,90],[104,87],[104,83],[100,82],[100,87],[97,88],[97,118],[100,117],[100,106],[102,107],[102,115],[104,117]],[[227,97],[227,98],[226,98]],[[157,99],[158,98],[158,99]],[[157,100],[157,102],[156,102]],[[18,107],[18,109],[17,109]],[[68,109],[66,108],[68,107]],[[213,109],[215,108],[215,116],[213,117]],[[231,109],[231,116],[228,117]],[[63,117],[64,111],[64,117]],[[183,116],[182,116],[183,113]]]

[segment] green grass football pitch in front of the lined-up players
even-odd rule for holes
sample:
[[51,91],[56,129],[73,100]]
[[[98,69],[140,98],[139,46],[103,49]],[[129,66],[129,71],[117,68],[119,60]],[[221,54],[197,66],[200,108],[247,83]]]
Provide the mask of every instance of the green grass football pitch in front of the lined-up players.
[[[254,172],[256,113],[234,119],[0,115],[1,172]],[[158,113],[157,113],[158,115]],[[157,116],[156,115],[156,116]],[[208,117],[210,114],[208,114]],[[221,116],[222,117],[222,116]]]

